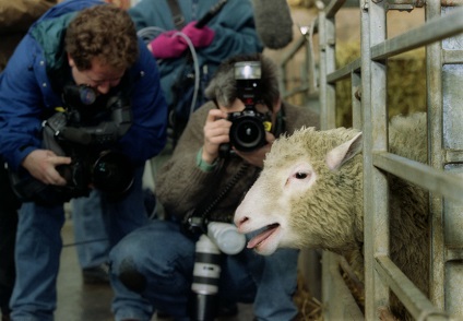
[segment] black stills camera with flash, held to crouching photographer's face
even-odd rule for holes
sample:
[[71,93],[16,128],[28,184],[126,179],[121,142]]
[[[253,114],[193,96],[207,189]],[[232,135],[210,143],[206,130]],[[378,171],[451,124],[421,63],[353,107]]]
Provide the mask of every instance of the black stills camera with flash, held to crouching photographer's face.
[[235,63],[237,94],[245,104],[245,110],[228,114],[227,119],[232,121],[230,143],[221,146],[222,155],[230,152],[230,145],[240,152],[252,152],[266,144],[265,131],[270,131],[272,122],[256,109],[256,105],[262,100],[260,79],[260,61]]

